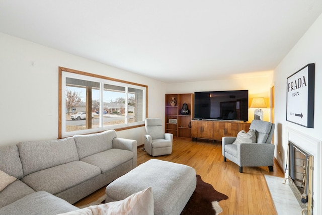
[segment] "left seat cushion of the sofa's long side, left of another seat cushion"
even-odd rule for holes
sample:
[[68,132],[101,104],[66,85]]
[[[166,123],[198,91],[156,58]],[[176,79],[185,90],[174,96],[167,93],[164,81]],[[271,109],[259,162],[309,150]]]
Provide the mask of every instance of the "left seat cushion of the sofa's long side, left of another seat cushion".
[[36,191],[56,194],[100,174],[99,167],[83,161],[73,161],[29,174],[22,181]]

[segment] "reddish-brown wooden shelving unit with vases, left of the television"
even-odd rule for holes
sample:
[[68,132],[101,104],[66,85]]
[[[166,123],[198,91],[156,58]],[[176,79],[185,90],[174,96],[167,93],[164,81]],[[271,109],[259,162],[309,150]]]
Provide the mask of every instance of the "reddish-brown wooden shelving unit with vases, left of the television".
[[[175,106],[171,105],[171,100],[176,99]],[[180,110],[183,104],[188,105],[190,113],[182,115]],[[172,133],[175,137],[191,139],[191,120],[193,117],[194,97],[188,94],[166,94],[166,117],[165,131]],[[177,123],[169,123],[169,119],[176,119]]]

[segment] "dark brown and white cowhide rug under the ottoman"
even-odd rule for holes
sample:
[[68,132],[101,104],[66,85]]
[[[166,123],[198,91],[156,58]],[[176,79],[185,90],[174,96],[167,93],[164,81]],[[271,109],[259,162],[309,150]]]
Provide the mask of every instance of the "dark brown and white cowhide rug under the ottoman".
[[[197,175],[196,189],[181,212],[181,215],[217,215],[222,212],[219,201],[227,198],[228,196],[216,191],[211,184],[204,182],[200,175]],[[105,203],[105,195],[97,201],[79,206],[79,208],[101,203]]]

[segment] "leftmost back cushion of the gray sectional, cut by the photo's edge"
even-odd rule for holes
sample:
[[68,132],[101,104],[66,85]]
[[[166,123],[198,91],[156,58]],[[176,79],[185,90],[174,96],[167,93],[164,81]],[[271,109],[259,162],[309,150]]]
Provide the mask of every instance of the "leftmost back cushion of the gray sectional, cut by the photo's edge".
[[0,148],[0,170],[18,179],[24,177],[16,145]]

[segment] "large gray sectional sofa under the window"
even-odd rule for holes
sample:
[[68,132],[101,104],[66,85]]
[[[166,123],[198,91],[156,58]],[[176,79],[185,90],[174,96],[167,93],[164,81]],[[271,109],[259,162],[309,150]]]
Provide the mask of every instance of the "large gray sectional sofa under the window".
[[[115,130],[2,147],[0,170],[17,180],[0,192],[0,214],[74,210],[72,203],[134,169],[136,162],[137,141],[119,138]],[[36,209],[30,201],[38,202]]]

